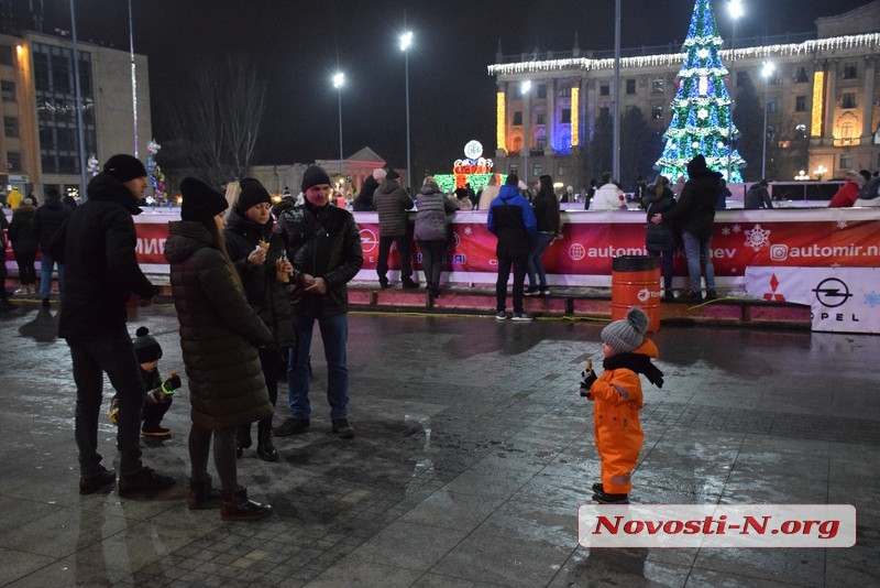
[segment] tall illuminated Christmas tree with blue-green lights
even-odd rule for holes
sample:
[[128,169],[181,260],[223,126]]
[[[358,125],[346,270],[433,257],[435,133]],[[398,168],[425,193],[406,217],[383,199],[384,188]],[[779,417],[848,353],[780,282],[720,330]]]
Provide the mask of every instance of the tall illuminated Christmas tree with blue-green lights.
[[[722,46],[711,0],[696,0],[683,51],[688,54],[679,72],[679,89],[672,101],[672,122],[663,138],[666,146],[657,162],[660,173],[673,183],[688,177],[688,162],[702,153],[711,170],[728,182],[740,183],[739,167],[745,160],[729,138],[739,134],[730,118],[730,95],[724,84],[727,68],[718,51]],[[730,167],[730,177],[727,168]]]

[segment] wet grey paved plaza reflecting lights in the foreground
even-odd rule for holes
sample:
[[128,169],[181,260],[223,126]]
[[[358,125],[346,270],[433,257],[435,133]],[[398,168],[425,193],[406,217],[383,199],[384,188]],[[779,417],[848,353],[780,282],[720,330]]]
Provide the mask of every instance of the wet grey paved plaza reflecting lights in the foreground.
[[[144,443],[177,486],[78,494],[55,313],[34,301],[0,315],[0,586],[880,585],[880,337],[668,328],[653,336],[666,385],[642,379],[634,502],[849,503],[855,547],[586,549],[578,507],[598,459],[578,382],[587,357],[601,363],[602,323],[352,314],[356,438],[330,434],[316,340],[311,428],[276,439],[278,462],[253,448],[239,461],[275,514],[231,523],[186,507],[186,382],[173,436]],[[163,372],[183,371],[173,307],[134,313]],[[109,421],[99,439],[118,466]]]

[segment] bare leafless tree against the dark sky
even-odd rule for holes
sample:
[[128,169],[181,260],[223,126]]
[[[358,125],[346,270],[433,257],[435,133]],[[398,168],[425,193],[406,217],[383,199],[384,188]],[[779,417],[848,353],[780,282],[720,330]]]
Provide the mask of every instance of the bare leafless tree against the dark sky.
[[265,106],[265,84],[243,55],[196,63],[168,112],[176,160],[219,186],[248,174]]

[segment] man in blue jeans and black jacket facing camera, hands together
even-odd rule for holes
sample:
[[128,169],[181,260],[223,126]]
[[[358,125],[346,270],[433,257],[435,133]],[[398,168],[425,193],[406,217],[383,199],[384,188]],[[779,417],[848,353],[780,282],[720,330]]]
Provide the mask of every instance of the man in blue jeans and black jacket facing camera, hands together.
[[330,206],[330,176],[312,165],[302,174],[305,203],[280,214],[275,230],[294,263],[292,282],[294,326],[297,342],[290,350],[287,371],[290,416],[275,428],[286,437],[309,427],[309,351],[315,323],[321,329],[327,359],[327,400],[332,431],[342,438],[354,437],[349,424],[349,291],[346,284],[364,263],[361,235],[354,217],[344,208]]

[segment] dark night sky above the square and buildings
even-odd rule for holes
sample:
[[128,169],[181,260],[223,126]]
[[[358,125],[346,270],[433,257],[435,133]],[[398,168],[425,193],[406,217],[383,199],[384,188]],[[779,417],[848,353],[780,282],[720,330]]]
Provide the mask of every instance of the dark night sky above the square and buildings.
[[[743,0],[737,39],[815,31],[818,17],[867,0]],[[614,47],[613,0],[131,0],[134,48],[150,59],[153,129],[168,139],[163,113],[177,80],[202,55],[244,52],[266,81],[267,108],[255,163],[339,157],[339,102],[331,83],[345,73],[345,156],[371,146],[406,167],[405,62],[399,35],[415,34],[409,53],[414,175],[448,171],[464,143],[495,148],[495,84],[486,66],[501,42],[506,55]],[[26,18],[26,0],[16,0]],[[658,8],[662,7],[662,12]],[[680,45],[693,0],[622,0],[622,47]],[[45,0],[44,32],[70,28],[69,0]],[[127,0],[76,0],[80,41],[129,48]],[[715,0],[718,29],[730,35],[727,2]],[[23,25],[33,28],[31,21]],[[444,170],[437,170],[440,166]]]

